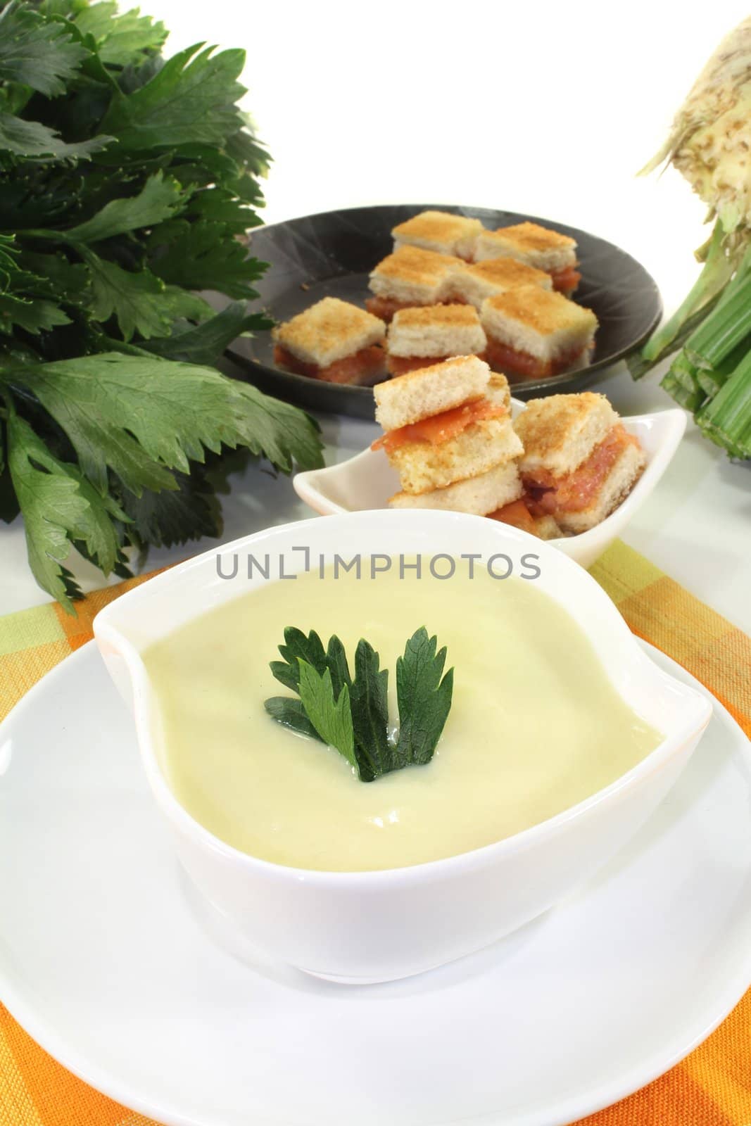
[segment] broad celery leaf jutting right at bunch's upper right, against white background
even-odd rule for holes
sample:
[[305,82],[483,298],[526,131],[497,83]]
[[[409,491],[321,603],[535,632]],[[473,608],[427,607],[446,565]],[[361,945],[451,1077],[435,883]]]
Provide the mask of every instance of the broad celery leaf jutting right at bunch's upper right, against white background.
[[212,55],[207,47],[196,54],[199,46],[173,55],[140,90],[113,98],[101,128],[120,149],[221,145],[241,124],[234,104],[244,93],[236,81],[244,52]]

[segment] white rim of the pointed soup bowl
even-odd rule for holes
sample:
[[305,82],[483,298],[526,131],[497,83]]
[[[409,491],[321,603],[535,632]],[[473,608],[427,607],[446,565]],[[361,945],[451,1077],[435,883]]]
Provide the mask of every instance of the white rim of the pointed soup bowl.
[[[385,516],[390,519],[395,518],[396,522],[400,520],[406,522],[408,520],[413,520],[415,513],[409,510],[370,509],[359,512],[339,513],[330,521],[325,521],[325,524],[327,527],[331,527],[333,530],[334,521],[351,521],[354,519],[363,520],[364,518],[373,517],[381,520],[384,519]],[[510,525],[493,521],[491,530],[490,525],[484,517],[471,516],[464,512],[424,510],[424,512],[420,511],[418,516],[420,520],[428,517],[428,519],[437,519],[439,522],[470,522],[476,525],[476,522],[480,521],[483,528],[490,530],[491,535],[498,535],[502,539],[504,538],[511,540],[512,544],[517,544],[522,548],[525,546],[534,547],[536,552],[542,553],[542,556],[549,555],[553,564],[555,566],[563,568],[564,573],[566,571],[570,573],[584,571],[583,568],[581,568],[563,552],[551,546],[549,542],[542,542],[537,539],[537,537],[531,536],[526,531],[521,531],[518,528],[513,528]],[[604,614],[611,617],[613,629],[616,634],[620,634],[620,637],[623,638],[623,647],[631,650],[631,653],[633,654],[632,659],[636,663],[649,665],[655,680],[669,682],[673,688],[677,687],[683,696],[695,699],[697,704],[700,705],[700,711],[704,713],[700,722],[697,722],[689,715],[689,718],[687,718],[685,723],[678,726],[672,733],[665,734],[662,741],[634,767],[627,770],[619,778],[616,778],[608,786],[597,790],[589,797],[583,798],[575,805],[570,806],[566,810],[562,810],[554,816],[530,825],[518,833],[512,833],[510,837],[502,838],[501,840],[493,841],[489,844],[480,846],[479,848],[470,849],[465,852],[457,852],[452,856],[440,857],[435,860],[426,860],[420,864],[403,865],[396,868],[374,868],[361,872],[332,872],[323,868],[298,868],[292,865],[279,864],[275,860],[265,860],[261,857],[236,849],[233,844],[223,841],[220,837],[212,833],[211,830],[202,825],[200,822],[197,821],[181,804],[170,787],[167,777],[159,765],[151,735],[149,721],[151,718],[151,709],[154,706],[155,700],[151,691],[145,663],[136,646],[120,632],[116,625],[110,622],[110,618],[115,615],[115,613],[123,611],[124,607],[127,606],[128,602],[134,604],[136,601],[141,601],[144,597],[153,597],[159,588],[175,582],[178,577],[190,571],[199,571],[209,560],[214,560],[217,554],[224,552],[236,553],[244,551],[249,545],[256,545],[265,539],[281,536],[293,528],[298,530],[301,526],[309,522],[318,525],[320,524],[320,520],[318,517],[311,517],[307,520],[294,520],[288,521],[287,524],[274,525],[269,528],[263,528],[259,531],[252,533],[251,535],[242,536],[239,539],[230,540],[225,544],[218,545],[217,547],[202,552],[199,555],[196,555],[190,560],[186,560],[184,563],[154,575],[152,579],[147,580],[147,582],[141,583],[138,587],[126,591],[119,598],[104,607],[96,615],[92,624],[93,636],[99,647],[101,649],[100,642],[110,644],[126,658],[126,663],[133,683],[133,714],[135,718],[141,759],[144,765],[152,793],[154,794],[163,814],[178,831],[191,837],[203,850],[207,850],[218,856],[221,859],[231,863],[235,867],[240,866],[245,869],[249,875],[260,876],[261,878],[284,879],[292,883],[305,883],[319,888],[348,890],[357,887],[363,890],[366,887],[367,890],[375,891],[385,885],[402,885],[403,887],[409,887],[415,883],[430,883],[433,881],[440,881],[447,876],[463,875],[474,870],[480,870],[500,863],[507,856],[526,851],[529,848],[535,847],[535,844],[545,838],[554,838],[569,824],[579,821],[596,807],[616,801],[622,794],[625,794],[638,786],[655,769],[663,766],[673,754],[676,754],[689,739],[695,735],[700,735],[707,727],[713,713],[710,701],[701,694],[697,692],[692,687],[683,685],[669,673],[663,672],[663,670],[660,669],[654,661],[652,661],[647,653],[640,647],[635,636],[632,634],[617,607],[607,596],[605,590],[599,586],[597,580],[589,575],[588,572],[584,572],[587,573],[587,581],[591,583],[590,589],[592,597],[600,602]],[[194,616],[199,617],[203,613],[206,613],[205,608],[196,610]],[[574,618],[574,620],[576,619]],[[581,625],[580,628],[583,629]],[[587,633],[587,631],[583,632]]]

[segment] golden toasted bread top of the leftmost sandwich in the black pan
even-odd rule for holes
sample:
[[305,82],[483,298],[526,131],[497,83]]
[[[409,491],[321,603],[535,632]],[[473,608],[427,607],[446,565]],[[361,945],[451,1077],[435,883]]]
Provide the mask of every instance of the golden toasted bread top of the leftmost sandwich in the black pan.
[[328,367],[368,348],[382,343],[386,325],[338,297],[323,297],[304,313],[277,325],[271,336],[304,364]]

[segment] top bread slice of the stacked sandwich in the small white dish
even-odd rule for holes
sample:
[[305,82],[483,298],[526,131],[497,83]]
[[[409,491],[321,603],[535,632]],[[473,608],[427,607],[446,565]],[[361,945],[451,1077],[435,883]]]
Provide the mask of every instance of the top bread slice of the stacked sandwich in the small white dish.
[[457,356],[408,372],[373,388],[376,422],[384,430],[399,430],[421,419],[481,399],[490,379],[490,368],[476,356]]

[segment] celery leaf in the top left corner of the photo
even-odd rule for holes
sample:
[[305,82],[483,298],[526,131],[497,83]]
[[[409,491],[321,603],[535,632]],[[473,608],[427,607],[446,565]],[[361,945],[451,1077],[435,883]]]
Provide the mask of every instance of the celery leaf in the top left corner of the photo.
[[15,2],[0,10],[0,82],[19,82],[56,98],[88,53],[62,24],[43,19],[28,6]]

